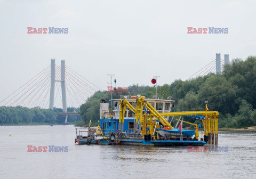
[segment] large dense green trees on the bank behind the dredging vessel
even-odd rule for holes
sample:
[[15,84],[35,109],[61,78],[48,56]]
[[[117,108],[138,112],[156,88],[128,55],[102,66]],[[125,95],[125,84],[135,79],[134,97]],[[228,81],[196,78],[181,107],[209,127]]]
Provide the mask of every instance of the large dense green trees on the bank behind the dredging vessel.
[[[134,88],[143,90],[135,91]],[[113,99],[120,95],[141,94],[152,98],[155,87],[132,85],[128,93],[113,93]],[[133,89],[133,90],[131,90]],[[146,90],[145,90],[146,89]],[[203,77],[182,81],[175,80],[157,88],[159,99],[172,96],[175,107],[172,111],[205,110],[204,101],[209,101],[208,108],[219,111],[219,127],[248,127],[256,125],[256,57],[249,56],[245,61],[234,59],[225,64],[221,74],[208,74]],[[100,100],[110,100],[107,91],[96,92],[80,107],[84,124],[98,125]]]

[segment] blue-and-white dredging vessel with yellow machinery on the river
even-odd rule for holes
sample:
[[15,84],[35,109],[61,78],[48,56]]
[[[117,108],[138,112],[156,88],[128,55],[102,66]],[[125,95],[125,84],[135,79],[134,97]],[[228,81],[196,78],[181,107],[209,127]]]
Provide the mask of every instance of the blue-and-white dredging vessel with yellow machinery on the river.
[[[146,99],[132,96],[132,99],[113,100],[114,110],[108,110],[108,103],[101,103],[100,135],[94,136],[92,144],[130,145],[204,145],[218,144],[218,111],[170,112],[172,100]],[[119,102],[119,103],[118,103]],[[199,140],[198,124],[194,130],[174,128],[169,117],[183,116],[202,120],[204,136]],[[180,119],[175,119],[181,121]],[[172,121],[172,120],[171,120]],[[163,129],[163,126],[165,128]],[[194,136],[194,138],[192,137]],[[111,139],[110,139],[111,138]],[[83,143],[83,142],[80,142]]]

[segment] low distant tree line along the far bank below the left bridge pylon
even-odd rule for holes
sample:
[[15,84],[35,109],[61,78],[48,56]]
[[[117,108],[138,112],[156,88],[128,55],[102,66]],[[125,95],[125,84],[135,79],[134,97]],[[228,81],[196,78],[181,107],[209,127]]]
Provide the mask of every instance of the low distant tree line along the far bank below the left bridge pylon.
[[[79,112],[79,108],[75,109]],[[68,108],[68,112],[73,112],[73,108]],[[0,107],[0,124],[62,124],[65,122],[65,116],[57,116],[56,112],[62,112],[61,108],[41,109],[37,108],[26,108],[26,107]],[[75,121],[81,120],[80,116],[68,116],[68,122],[74,123]]]

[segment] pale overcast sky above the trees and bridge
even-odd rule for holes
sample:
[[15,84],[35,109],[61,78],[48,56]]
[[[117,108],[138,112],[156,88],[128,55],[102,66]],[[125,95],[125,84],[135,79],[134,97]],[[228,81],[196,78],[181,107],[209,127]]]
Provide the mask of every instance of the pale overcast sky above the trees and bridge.
[[[102,90],[186,80],[215,59],[256,55],[255,1],[6,1],[0,0],[0,100],[55,59]],[[68,28],[28,34],[27,27]],[[187,27],[228,28],[188,34]],[[61,103],[58,103],[60,105]]]

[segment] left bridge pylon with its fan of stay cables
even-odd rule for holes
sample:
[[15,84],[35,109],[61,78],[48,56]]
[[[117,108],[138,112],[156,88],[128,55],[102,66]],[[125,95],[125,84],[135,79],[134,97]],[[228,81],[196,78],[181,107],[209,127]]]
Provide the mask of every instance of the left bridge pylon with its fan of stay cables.
[[[57,97],[60,97],[63,113],[57,115],[66,116],[67,123],[68,115],[79,115],[75,106],[85,103],[97,91],[101,89],[66,66],[65,60],[61,60],[61,65],[57,66],[55,59],[52,59],[50,66],[0,101],[0,104],[9,107],[20,105],[27,108],[53,109]],[[67,104],[73,108],[73,112],[67,111]]]

